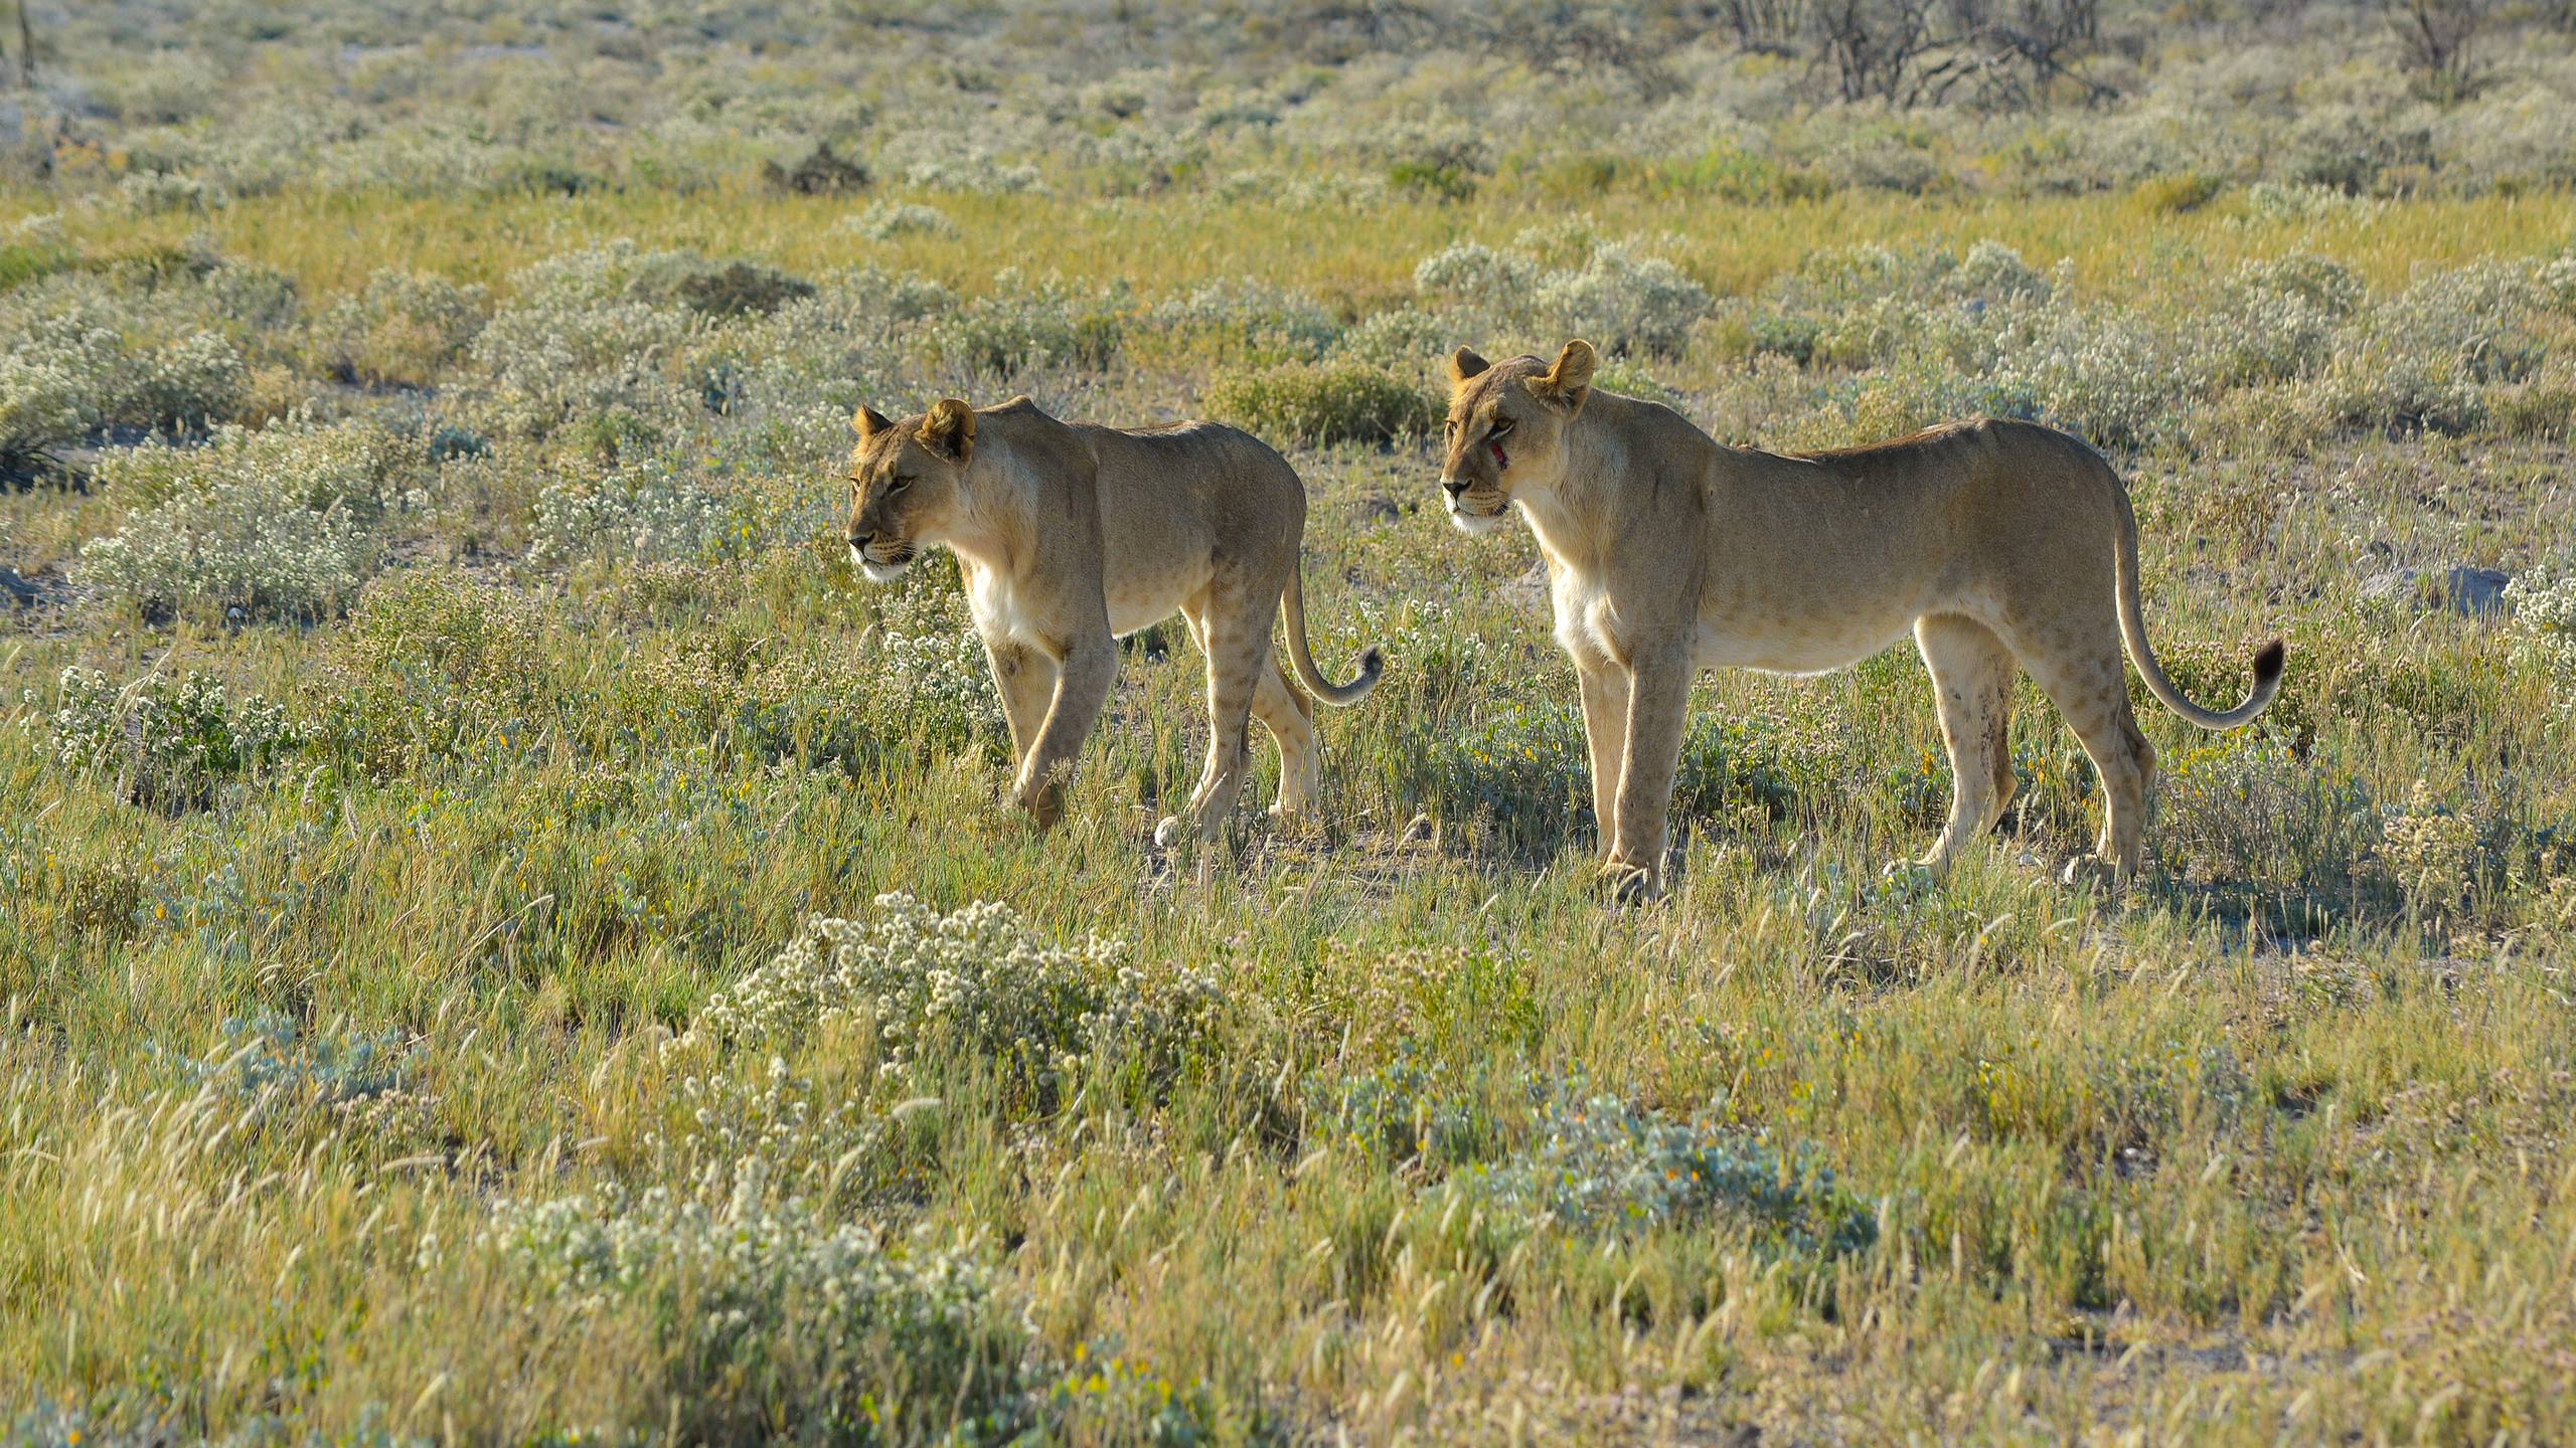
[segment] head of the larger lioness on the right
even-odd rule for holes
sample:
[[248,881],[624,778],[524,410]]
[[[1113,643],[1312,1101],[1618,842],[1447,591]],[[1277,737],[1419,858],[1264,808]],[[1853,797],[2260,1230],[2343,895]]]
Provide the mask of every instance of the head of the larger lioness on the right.
[[1448,361],[1450,417],[1440,492],[1468,533],[1502,526],[1515,492],[1551,490],[1566,472],[1566,428],[1592,394],[1592,343],[1543,358],[1489,363],[1471,348]]

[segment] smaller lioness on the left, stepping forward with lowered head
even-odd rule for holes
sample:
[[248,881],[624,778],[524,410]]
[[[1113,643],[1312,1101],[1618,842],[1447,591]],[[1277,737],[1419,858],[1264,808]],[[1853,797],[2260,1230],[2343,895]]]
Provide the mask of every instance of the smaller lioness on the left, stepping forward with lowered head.
[[1012,801],[1043,827],[1118,675],[1118,634],[1180,613],[1208,654],[1208,768],[1185,817],[1216,837],[1252,763],[1247,711],[1280,747],[1278,814],[1316,799],[1314,706],[1270,660],[1285,608],[1306,693],[1350,706],[1378,685],[1378,649],[1334,688],[1306,647],[1298,544],[1306,484],[1267,443],[1216,423],[1092,428],[1028,397],[976,412],[945,399],[889,423],[860,407],[850,453],[850,559],[889,582],[933,544],[956,551],[966,603],[1018,760]]

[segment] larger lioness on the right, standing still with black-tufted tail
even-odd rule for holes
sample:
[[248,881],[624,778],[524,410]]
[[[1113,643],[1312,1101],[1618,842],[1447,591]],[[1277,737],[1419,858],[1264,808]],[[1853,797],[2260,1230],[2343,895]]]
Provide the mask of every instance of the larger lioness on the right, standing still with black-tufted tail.
[[[2156,752],[2120,642],[2166,709],[2233,729],[2280,691],[2282,644],[2226,714],[2174,688],[2138,616],[2138,518],[2097,451],[2032,423],[1945,423],[1832,453],[1728,448],[1682,415],[1592,389],[1592,348],[1486,363],[1450,356],[1440,487],[1458,528],[1517,505],[1548,559],[1556,642],[1582,678],[1602,871],[1662,886],[1664,817],[1690,680],[1703,667],[1826,672],[1914,631],[1950,747],[1940,871],[2012,801],[2014,667],[2102,773],[2089,861],[2128,884]],[[2079,873],[2087,861],[2069,866]]]

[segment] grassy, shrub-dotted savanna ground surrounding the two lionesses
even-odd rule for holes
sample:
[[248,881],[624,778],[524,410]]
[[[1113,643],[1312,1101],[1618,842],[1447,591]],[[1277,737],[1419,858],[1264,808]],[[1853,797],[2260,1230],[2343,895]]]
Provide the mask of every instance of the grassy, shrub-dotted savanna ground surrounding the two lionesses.
[[[2566,5],[33,0],[0,26],[13,1443],[2563,1443]],[[15,21],[15,13],[10,15]],[[1710,678],[1592,889],[1437,358],[2102,446],[2195,696]],[[1306,477],[1319,830],[1046,837],[850,412]],[[1430,502],[1430,505],[1427,505]],[[1257,768],[1270,770],[1257,752]],[[1267,801],[1270,783],[1252,791]]]

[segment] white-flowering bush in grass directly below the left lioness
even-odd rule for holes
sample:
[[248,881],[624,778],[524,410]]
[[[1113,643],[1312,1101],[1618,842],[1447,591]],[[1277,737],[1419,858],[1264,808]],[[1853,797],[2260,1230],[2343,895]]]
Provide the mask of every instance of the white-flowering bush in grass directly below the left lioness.
[[786,951],[711,997],[683,1043],[793,1043],[866,1023],[881,1077],[914,1092],[958,1062],[989,1069],[1007,1105],[1046,1110],[1092,1062],[1167,1080],[1224,1002],[1211,974],[1146,974],[1123,946],[1059,946],[999,902],[940,915],[909,894],[868,920],[814,917]]

